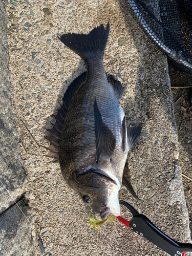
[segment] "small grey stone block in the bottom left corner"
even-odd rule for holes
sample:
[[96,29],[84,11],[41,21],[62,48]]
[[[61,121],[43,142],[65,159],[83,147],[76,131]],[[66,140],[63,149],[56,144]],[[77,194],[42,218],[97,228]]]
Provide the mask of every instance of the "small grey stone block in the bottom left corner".
[[[26,220],[26,217],[29,220]],[[29,207],[23,200],[0,215],[0,255],[33,256],[32,222]]]

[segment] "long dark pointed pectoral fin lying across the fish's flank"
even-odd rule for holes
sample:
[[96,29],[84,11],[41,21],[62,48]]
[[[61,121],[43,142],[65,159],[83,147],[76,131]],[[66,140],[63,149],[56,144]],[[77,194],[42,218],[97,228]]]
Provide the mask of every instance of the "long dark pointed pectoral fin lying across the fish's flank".
[[94,117],[97,161],[99,161],[99,158],[110,160],[115,150],[116,139],[109,127],[103,123],[96,99],[94,103]]

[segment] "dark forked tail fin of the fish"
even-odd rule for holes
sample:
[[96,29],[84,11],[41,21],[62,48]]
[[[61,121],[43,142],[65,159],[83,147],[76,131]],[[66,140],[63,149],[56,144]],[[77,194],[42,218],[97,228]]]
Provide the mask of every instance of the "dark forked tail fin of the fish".
[[69,47],[86,61],[92,53],[96,53],[103,57],[109,31],[110,25],[108,23],[106,29],[104,29],[103,24],[101,24],[87,35],[69,33],[58,36],[58,38],[64,45]]

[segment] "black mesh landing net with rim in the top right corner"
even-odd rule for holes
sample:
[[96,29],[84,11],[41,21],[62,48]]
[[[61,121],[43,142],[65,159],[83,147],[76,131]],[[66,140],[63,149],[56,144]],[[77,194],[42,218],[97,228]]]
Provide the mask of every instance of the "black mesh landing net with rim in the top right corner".
[[175,68],[192,74],[192,0],[124,0]]

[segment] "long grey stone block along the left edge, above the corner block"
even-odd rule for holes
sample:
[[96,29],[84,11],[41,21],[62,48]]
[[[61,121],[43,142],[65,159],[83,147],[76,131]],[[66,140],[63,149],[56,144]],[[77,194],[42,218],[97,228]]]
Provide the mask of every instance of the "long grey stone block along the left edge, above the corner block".
[[0,183],[1,214],[14,203],[14,200],[18,200],[24,193],[26,175],[20,158],[15,116],[11,105],[12,88],[8,70],[7,17],[2,1],[0,2],[0,12],[0,177],[11,195],[8,195],[4,186]]

